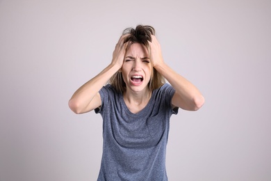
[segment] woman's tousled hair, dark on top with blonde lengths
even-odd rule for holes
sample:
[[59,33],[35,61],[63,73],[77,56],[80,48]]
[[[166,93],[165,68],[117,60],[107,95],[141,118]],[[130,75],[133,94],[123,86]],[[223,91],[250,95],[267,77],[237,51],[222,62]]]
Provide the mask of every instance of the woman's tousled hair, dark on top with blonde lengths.
[[[152,26],[138,25],[136,26],[136,29],[127,28],[124,29],[122,33],[122,35],[125,34],[130,34],[124,40],[124,43],[130,42],[126,47],[126,50],[129,49],[133,43],[140,43],[141,45],[147,47],[150,56],[149,42],[151,42],[151,35],[155,36],[155,30]],[[152,69],[153,71],[151,73],[151,79],[149,80],[148,84],[149,91],[154,91],[154,89],[160,88],[163,86],[163,84],[165,84],[165,78],[162,76],[162,74],[160,74],[155,68]],[[113,74],[108,83],[111,84],[118,92],[124,93],[124,91],[126,91],[126,84],[123,80],[122,72],[120,71]]]

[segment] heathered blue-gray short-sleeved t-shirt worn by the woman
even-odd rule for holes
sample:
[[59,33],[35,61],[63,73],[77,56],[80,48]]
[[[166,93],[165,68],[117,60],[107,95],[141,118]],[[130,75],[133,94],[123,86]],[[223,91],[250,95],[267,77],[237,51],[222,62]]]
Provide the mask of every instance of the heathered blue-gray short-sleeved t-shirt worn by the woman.
[[164,84],[153,91],[147,106],[131,113],[122,94],[107,84],[99,91],[103,118],[103,155],[98,181],[165,181],[165,151],[174,88]]

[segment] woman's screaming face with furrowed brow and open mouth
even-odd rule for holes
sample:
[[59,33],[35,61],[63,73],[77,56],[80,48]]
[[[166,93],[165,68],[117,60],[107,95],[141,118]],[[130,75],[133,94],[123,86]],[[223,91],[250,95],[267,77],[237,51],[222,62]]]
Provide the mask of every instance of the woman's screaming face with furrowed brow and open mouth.
[[133,43],[127,49],[122,65],[122,77],[126,90],[146,91],[151,73],[152,65],[147,48],[139,43]]

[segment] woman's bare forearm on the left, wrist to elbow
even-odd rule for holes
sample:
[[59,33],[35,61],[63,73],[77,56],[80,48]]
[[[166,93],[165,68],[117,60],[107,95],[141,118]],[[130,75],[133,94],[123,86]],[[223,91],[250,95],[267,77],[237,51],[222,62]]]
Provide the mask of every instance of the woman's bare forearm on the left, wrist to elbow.
[[99,74],[97,74],[96,77],[83,84],[83,86],[81,86],[69,100],[70,109],[76,113],[85,112],[85,109],[87,109],[95,95],[97,95],[108,79],[110,79],[110,77],[112,77],[113,74],[115,74],[115,72],[117,72],[119,69],[119,66],[111,63]]

